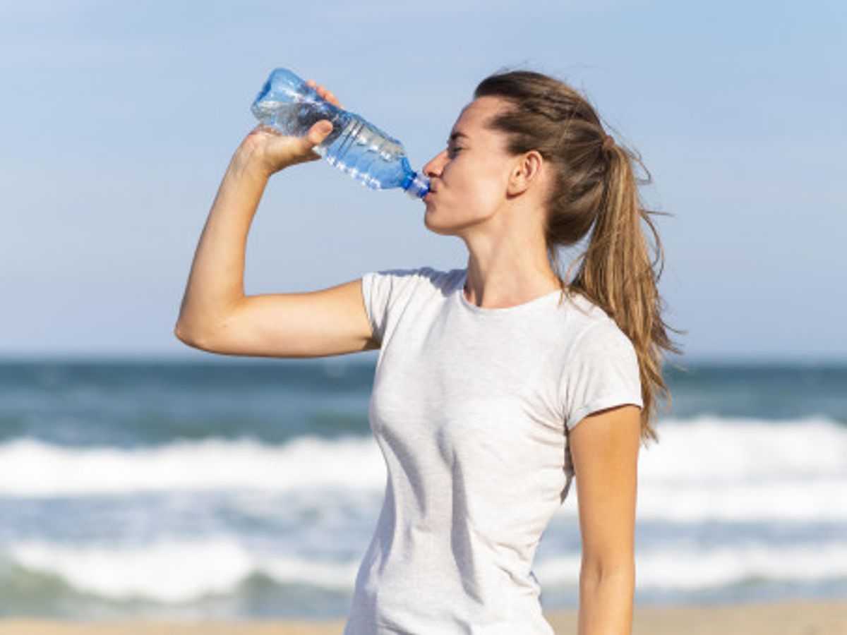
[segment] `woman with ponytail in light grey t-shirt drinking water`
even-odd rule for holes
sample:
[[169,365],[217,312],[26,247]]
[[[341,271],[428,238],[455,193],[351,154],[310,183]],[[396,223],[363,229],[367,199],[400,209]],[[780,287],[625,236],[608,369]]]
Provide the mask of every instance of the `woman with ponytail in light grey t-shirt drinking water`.
[[[246,235],[268,177],[317,158],[330,130],[258,129],[242,142],[175,332],[229,355],[380,349],[370,416],[389,478],[345,632],[551,633],[532,559],[574,476],[579,633],[630,632],[639,444],[655,438],[667,395],[662,349],[677,351],[634,157],[561,81],[492,75],[424,167],[424,223],[464,241],[466,269],[245,296]],[[568,281],[556,249],[586,235]]]

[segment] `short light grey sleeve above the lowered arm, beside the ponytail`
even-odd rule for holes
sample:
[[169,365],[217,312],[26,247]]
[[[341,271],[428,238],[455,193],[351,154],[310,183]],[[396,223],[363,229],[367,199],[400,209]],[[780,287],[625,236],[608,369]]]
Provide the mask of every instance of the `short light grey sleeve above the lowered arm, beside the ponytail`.
[[567,431],[596,411],[644,407],[638,356],[616,324],[595,324],[576,340],[562,373],[562,400]]

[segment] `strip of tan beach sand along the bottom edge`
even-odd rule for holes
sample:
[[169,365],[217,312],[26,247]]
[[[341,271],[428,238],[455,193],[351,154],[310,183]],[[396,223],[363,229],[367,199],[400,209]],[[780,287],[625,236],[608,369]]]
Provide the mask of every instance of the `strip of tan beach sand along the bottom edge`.
[[[557,635],[576,635],[576,611],[545,613]],[[340,635],[343,621],[69,622],[0,620],[3,635]],[[633,635],[844,635],[847,599],[636,608]],[[516,633],[515,635],[520,635]]]

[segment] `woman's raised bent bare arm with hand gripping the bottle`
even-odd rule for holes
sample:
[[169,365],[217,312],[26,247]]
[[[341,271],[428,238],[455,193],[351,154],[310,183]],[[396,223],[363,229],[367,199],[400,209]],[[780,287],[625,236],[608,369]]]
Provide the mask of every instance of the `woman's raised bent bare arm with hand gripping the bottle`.
[[[331,93],[319,90],[335,101]],[[319,121],[302,138],[253,130],[235,151],[202,231],[174,334],[224,355],[315,357],[378,347],[361,279],[310,293],[244,295],[247,234],[268,178],[313,161],[332,130]]]

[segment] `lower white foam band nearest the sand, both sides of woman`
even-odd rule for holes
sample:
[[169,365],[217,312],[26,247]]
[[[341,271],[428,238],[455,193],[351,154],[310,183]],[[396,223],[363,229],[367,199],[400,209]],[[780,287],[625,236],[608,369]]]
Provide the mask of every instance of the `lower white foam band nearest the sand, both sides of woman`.
[[[30,572],[53,574],[79,591],[110,599],[144,598],[183,603],[229,594],[252,574],[277,583],[350,591],[357,561],[310,560],[252,551],[231,538],[173,542],[134,548],[74,548],[50,543],[13,545],[7,557]],[[543,587],[574,586],[579,553],[536,560]],[[636,552],[640,589],[706,590],[738,583],[813,583],[847,578],[847,543],[750,542],[704,548],[671,545]],[[166,574],[163,572],[167,572]]]

